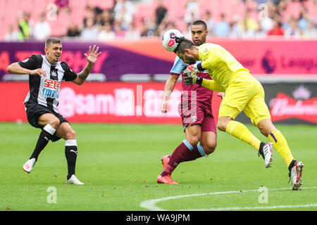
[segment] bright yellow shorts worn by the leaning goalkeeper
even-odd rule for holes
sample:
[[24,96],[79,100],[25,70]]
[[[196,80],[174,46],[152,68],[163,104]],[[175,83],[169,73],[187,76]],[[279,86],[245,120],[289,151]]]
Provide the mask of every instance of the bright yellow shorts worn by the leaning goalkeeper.
[[249,72],[237,72],[225,90],[218,116],[235,119],[243,110],[257,126],[259,121],[271,119],[264,96],[263,86]]

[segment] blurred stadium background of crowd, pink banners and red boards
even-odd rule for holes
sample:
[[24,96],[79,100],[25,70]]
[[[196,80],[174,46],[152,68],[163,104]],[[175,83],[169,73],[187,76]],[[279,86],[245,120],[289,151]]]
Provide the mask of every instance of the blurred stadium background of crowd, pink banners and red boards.
[[[316,0],[0,0],[0,121],[26,122],[28,77],[9,75],[7,66],[43,54],[44,40],[59,37],[62,60],[75,72],[89,45],[103,52],[89,82],[61,86],[59,110],[71,122],[180,124],[180,83],[169,113],[159,110],[175,58],[161,35],[177,28],[190,38],[189,24],[199,19],[208,41],[263,84],[274,122],[317,124]],[[220,100],[213,101],[217,117]]]

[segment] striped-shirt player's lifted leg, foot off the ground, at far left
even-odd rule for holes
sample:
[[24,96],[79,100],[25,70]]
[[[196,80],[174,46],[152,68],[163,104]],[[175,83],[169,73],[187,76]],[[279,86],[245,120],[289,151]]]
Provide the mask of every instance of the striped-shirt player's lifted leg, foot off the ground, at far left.
[[49,141],[52,139],[54,133],[56,132],[56,129],[59,126],[59,120],[51,113],[44,113],[38,117],[36,126],[43,128],[41,133],[39,134],[39,138],[37,139],[35,149],[33,150],[30,159],[27,160],[27,162],[25,162],[25,164],[23,165],[23,170],[27,173],[32,172],[32,169],[35,166],[35,162],[37,162],[37,158],[39,157],[39,153],[42,152],[47,143],[49,143]]

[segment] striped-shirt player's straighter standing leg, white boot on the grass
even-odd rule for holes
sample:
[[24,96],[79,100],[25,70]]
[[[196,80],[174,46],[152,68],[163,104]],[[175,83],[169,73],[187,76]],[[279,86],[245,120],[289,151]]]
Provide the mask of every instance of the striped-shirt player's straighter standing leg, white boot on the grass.
[[68,122],[63,122],[56,131],[56,136],[65,139],[65,156],[68,166],[66,184],[83,184],[75,176],[77,160],[76,132],[70,127]]

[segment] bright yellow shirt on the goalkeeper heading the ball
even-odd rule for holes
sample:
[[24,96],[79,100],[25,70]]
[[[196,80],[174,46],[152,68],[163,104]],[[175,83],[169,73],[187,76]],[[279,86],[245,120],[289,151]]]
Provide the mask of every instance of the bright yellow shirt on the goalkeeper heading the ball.
[[211,78],[223,89],[227,89],[232,77],[240,71],[247,71],[227,50],[218,44],[201,44],[199,60]]

